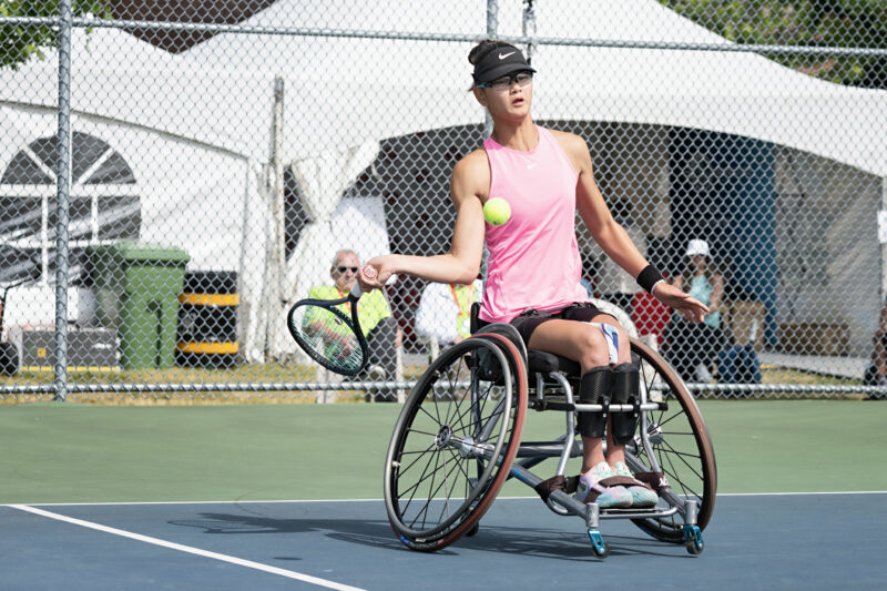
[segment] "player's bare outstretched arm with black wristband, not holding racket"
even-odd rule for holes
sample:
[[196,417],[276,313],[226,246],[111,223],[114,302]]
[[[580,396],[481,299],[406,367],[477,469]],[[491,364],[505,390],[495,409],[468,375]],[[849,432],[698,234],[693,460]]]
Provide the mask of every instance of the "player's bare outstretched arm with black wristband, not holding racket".
[[[594,242],[632,277],[638,277],[649,263],[631,241],[628,232],[613,220],[613,215],[598,188],[598,183],[594,181],[588,145],[584,140],[572,133],[552,133],[579,173],[575,191],[577,208]],[[663,304],[675,308],[689,320],[702,322],[708,312],[708,308],[699,299],[690,297],[689,294],[665,282],[655,285],[653,295]]]

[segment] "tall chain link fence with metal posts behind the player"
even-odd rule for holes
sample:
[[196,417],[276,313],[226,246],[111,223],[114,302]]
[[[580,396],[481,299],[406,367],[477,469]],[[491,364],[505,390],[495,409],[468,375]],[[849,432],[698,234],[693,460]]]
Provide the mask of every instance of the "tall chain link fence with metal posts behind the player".
[[[883,396],[883,1],[0,1],[0,393],[395,400],[480,292],[397,277],[340,381],[288,307],[447,252],[483,38],[538,70],[683,324],[578,218],[583,284],[701,395]],[[482,279],[482,277],[480,277]]]

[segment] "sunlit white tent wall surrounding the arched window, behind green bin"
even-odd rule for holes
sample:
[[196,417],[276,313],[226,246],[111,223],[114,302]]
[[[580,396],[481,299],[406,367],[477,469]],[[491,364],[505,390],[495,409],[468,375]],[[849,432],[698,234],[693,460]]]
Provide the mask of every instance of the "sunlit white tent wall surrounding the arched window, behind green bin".
[[[0,105],[0,125],[2,171],[29,143],[54,135],[57,115],[45,109]],[[141,202],[141,241],[183,248],[191,256],[190,269],[237,272],[243,324],[248,328],[247,313],[262,292],[265,242],[272,231],[268,204],[259,194],[263,167],[215,146],[95,116],[73,113],[72,129],[106,142],[132,169]],[[10,309],[18,307],[16,302]],[[74,314],[78,300],[72,302]],[[7,320],[50,324],[51,309],[22,309]]]

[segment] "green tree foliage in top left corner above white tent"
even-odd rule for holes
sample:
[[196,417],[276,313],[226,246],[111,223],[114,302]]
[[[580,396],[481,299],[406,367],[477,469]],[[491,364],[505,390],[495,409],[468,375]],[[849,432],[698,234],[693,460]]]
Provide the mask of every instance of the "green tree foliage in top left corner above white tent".
[[[92,14],[108,18],[110,0],[72,0],[74,17]],[[0,0],[2,17],[58,17],[59,0]],[[57,27],[0,24],[0,68],[17,70],[32,57],[44,58],[43,51],[59,47]]]

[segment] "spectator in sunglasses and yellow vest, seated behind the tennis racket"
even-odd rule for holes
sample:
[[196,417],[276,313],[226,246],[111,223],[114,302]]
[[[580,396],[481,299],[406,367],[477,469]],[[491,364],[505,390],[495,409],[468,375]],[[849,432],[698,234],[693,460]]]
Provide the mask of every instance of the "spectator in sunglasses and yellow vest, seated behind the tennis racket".
[[[329,268],[333,285],[315,285],[308,297],[318,299],[345,297],[354,287],[359,269],[360,259],[357,253],[350,249],[338,251]],[[401,333],[381,289],[374,289],[363,295],[357,304],[357,318],[369,348],[366,375],[360,377],[373,380],[394,379],[397,373],[396,349],[400,346]],[[391,396],[394,396],[391,393],[385,393],[381,399],[396,399],[396,396],[394,398]]]

